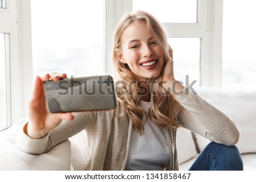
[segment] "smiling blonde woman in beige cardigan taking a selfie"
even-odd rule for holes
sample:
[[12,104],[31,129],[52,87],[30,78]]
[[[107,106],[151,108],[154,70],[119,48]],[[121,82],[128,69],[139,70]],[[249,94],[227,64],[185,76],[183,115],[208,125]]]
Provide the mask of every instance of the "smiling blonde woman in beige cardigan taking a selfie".
[[234,146],[236,125],[175,80],[172,49],[154,16],[144,11],[123,16],[115,29],[113,62],[116,81],[123,83],[114,111],[48,113],[43,81],[66,75],[37,77],[30,121],[16,146],[42,154],[85,130],[90,146],[86,170],[178,170],[176,130],[181,126],[213,141],[191,170],[242,170]]

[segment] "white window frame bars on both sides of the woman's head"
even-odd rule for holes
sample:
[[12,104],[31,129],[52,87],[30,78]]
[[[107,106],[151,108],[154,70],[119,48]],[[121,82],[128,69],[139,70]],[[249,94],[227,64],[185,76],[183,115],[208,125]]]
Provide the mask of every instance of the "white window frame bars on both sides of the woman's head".
[[[133,10],[133,0],[108,0],[106,6],[107,60],[111,60],[115,24],[124,13]],[[222,5],[223,0],[198,0],[196,23],[164,23],[168,38],[200,38],[200,85],[221,87],[222,59]],[[189,30],[189,31],[188,31]],[[174,50],[175,51],[175,50]],[[112,73],[112,62],[108,62]]]

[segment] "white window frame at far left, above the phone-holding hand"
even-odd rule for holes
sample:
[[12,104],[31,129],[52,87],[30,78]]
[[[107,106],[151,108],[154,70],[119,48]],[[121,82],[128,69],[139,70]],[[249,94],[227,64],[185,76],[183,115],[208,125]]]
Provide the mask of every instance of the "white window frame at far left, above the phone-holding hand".
[[9,121],[6,122],[12,125],[27,115],[27,101],[31,95],[30,0],[6,0],[6,9],[0,9],[0,32],[10,35],[10,70],[7,71]]

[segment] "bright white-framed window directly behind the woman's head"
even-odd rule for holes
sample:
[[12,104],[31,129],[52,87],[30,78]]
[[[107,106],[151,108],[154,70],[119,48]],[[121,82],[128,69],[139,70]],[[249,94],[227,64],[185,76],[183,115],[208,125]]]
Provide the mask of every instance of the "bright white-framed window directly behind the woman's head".
[[[185,61],[178,61],[177,64],[174,60],[175,76],[179,75],[177,80],[184,83],[188,75],[189,82],[197,80],[197,85],[221,87],[222,0],[110,0],[110,2],[118,3],[117,6],[109,6],[115,15],[115,17],[110,16],[114,18],[114,23],[123,13],[136,10],[148,11],[156,16],[166,27],[175,60],[184,60],[185,55],[188,54],[185,51],[193,52],[193,62],[191,59],[187,60],[189,64],[193,63],[193,69],[195,68],[193,71],[185,69],[188,65]],[[113,28],[110,28],[110,31],[112,30]],[[181,44],[190,44],[192,47],[184,48],[185,46],[182,47]],[[176,48],[180,47],[183,53],[175,55],[175,52],[180,51]]]

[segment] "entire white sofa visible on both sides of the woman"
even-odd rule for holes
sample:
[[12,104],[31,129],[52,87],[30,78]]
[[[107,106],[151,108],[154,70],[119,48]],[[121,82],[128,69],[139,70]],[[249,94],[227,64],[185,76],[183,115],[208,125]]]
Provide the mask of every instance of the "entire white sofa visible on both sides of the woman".
[[[240,130],[237,147],[242,154],[244,169],[256,170],[256,90],[203,87],[195,90],[233,119]],[[84,131],[53,147],[46,154],[31,155],[15,148],[16,134],[26,122],[27,118],[22,118],[0,132],[0,170],[84,170],[88,158],[84,152]],[[180,128],[177,131],[180,170],[187,170],[208,143],[208,139]]]

